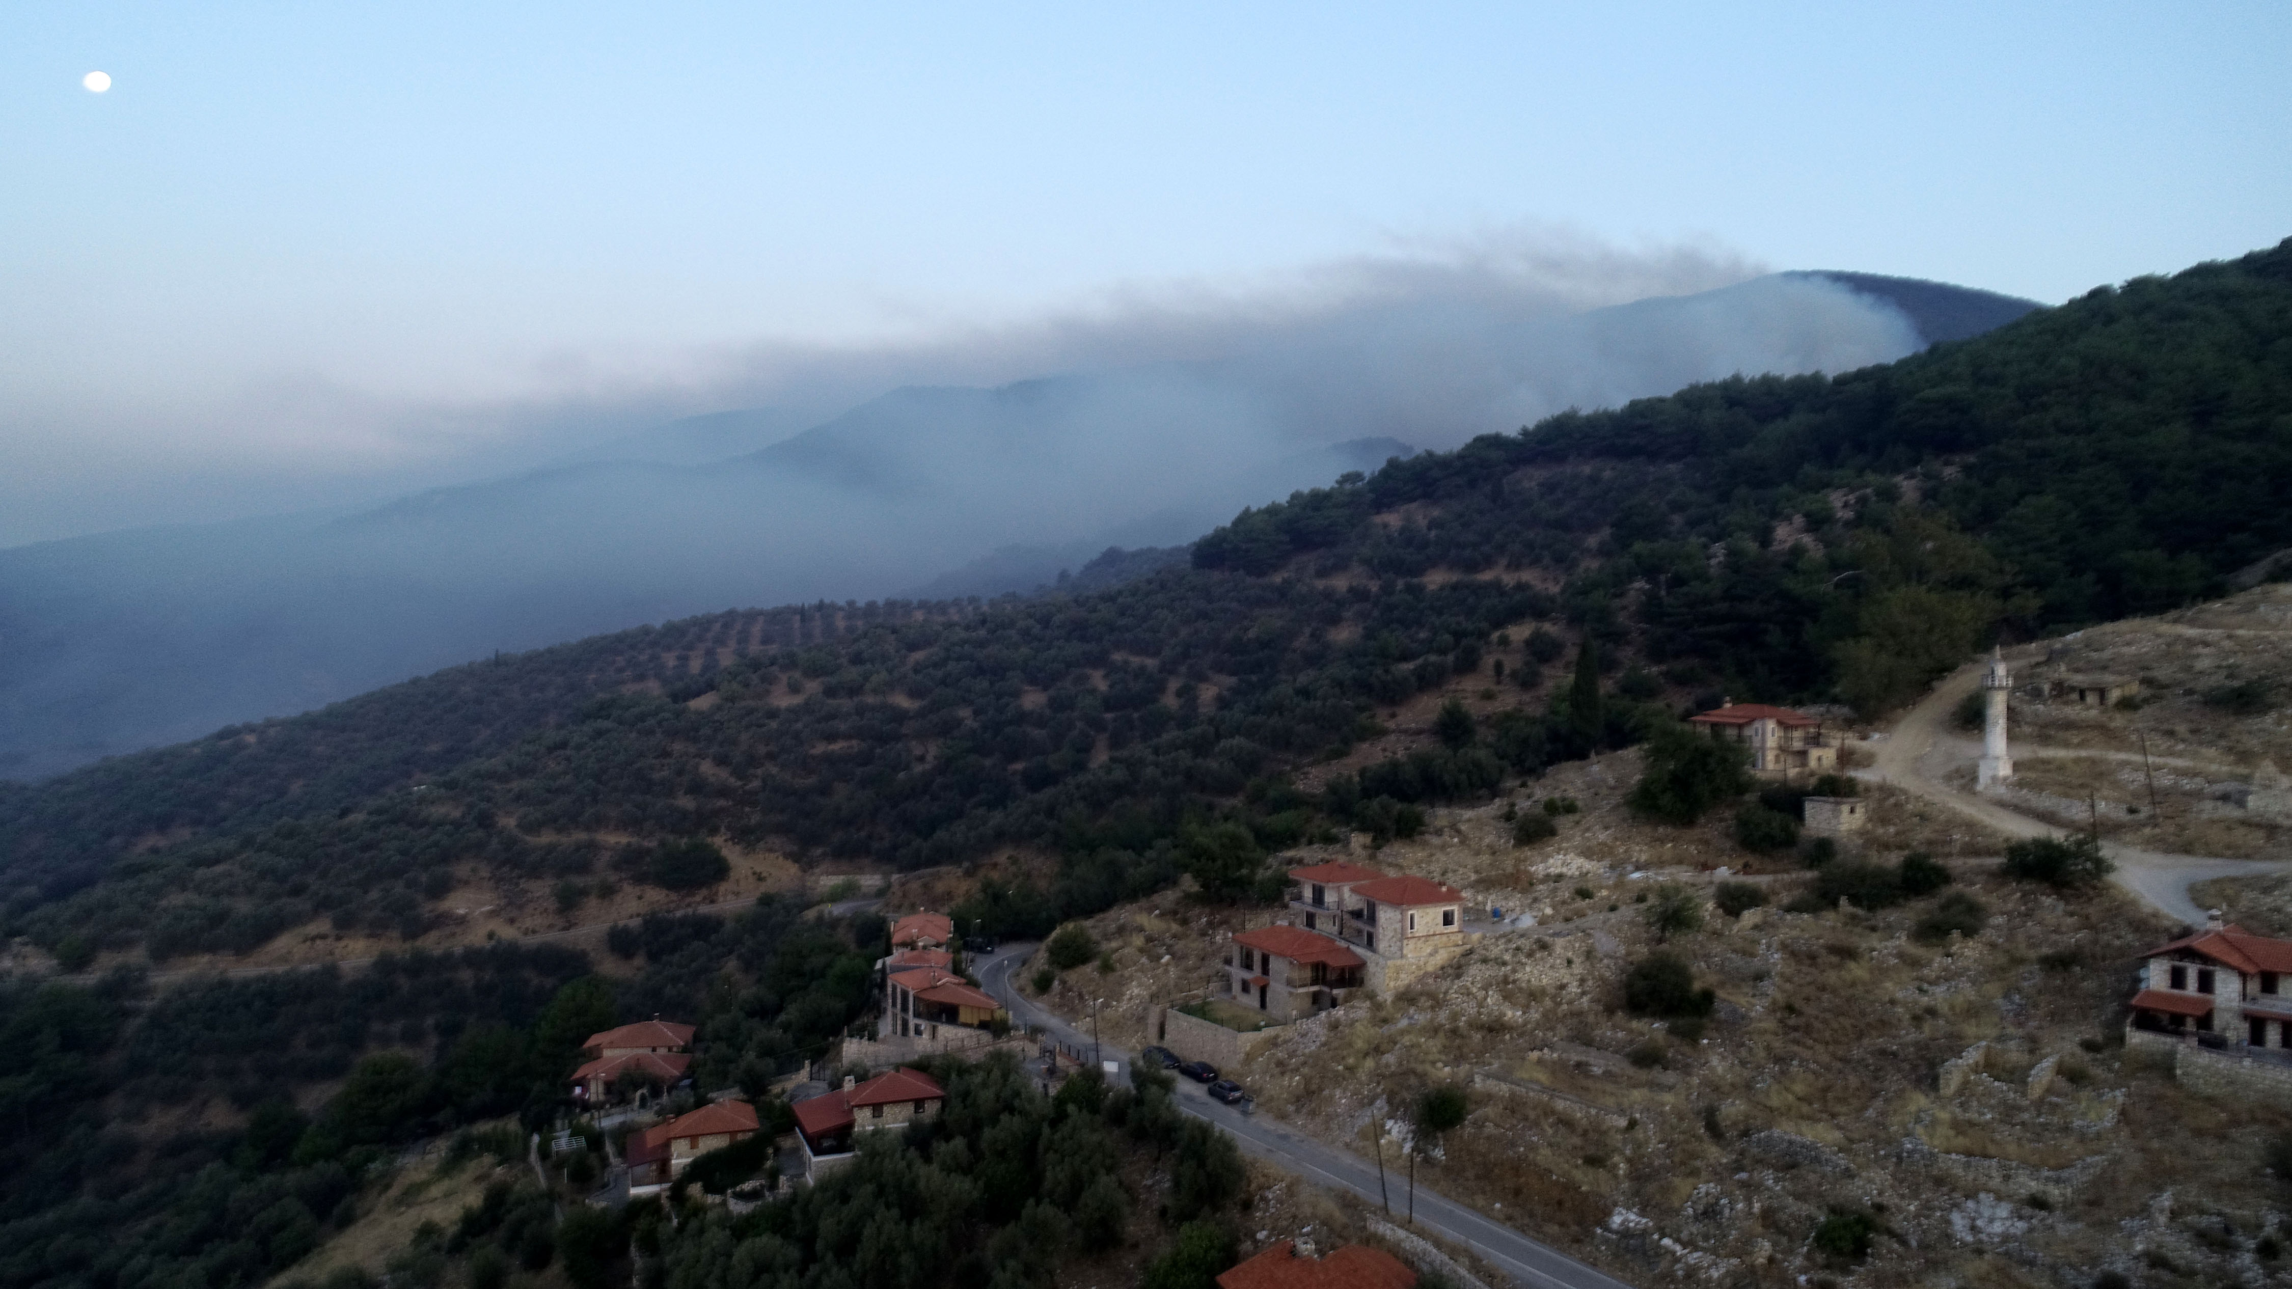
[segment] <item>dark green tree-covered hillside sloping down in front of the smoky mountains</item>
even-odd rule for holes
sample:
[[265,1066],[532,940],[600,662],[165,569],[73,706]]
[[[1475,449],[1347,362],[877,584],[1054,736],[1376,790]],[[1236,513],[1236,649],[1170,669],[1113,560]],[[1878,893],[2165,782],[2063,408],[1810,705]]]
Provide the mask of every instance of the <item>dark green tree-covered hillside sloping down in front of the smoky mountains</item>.
[[[1112,589],[688,619],[9,787],[7,931],[66,961],[419,936],[470,874],[662,881],[701,839],[1057,858],[979,908],[1006,929],[1180,869],[1242,890],[1304,835],[1632,741],[1641,702],[1875,711],[1994,633],[2182,603],[2292,546],[2283,495],[2292,243],[1889,367],[1394,461]],[[1563,640],[1595,665],[1545,686]],[[1288,787],[1444,686],[1513,697]]]

